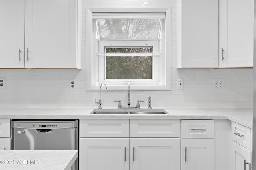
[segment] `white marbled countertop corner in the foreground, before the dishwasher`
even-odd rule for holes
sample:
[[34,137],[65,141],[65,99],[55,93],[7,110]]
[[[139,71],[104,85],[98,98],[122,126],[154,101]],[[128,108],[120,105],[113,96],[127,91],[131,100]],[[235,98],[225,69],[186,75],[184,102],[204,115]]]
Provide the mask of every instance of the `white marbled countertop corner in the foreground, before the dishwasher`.
[[70,170],[77,150],[2,150],[1,170]]

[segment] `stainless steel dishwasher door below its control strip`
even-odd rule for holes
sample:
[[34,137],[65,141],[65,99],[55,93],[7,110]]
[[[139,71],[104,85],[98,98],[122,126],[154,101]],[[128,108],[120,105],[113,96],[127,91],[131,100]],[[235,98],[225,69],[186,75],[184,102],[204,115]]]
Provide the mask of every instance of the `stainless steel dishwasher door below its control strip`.
[[24,129],[12,131],[13,150],[77,150],[75,129]]

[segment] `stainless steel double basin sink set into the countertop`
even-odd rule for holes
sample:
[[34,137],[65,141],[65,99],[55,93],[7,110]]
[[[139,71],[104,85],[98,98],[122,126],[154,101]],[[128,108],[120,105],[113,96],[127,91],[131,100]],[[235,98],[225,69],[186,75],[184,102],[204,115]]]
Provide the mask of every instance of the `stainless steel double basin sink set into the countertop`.
[[164,109],[94,109],[91,114],[168,114]]

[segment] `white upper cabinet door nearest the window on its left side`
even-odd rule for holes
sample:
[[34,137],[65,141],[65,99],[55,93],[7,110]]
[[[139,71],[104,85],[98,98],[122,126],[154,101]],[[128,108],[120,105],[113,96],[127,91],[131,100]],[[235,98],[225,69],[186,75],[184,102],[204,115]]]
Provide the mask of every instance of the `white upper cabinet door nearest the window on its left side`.
[[76,16],[77,0],[26,0],[25,68],[77,68]]

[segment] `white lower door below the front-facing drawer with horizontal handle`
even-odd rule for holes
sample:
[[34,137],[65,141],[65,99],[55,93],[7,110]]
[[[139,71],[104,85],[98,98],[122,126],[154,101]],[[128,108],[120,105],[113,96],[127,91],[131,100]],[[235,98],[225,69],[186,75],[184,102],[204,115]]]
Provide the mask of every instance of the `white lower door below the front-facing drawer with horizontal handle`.
[[214,139],[181,139],[181,170],[214,170]]

